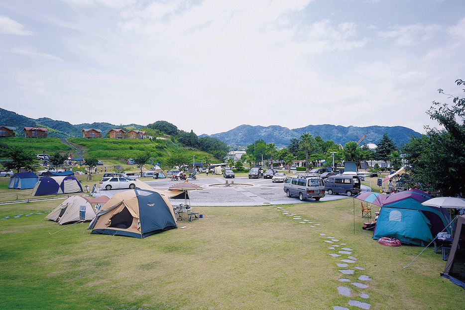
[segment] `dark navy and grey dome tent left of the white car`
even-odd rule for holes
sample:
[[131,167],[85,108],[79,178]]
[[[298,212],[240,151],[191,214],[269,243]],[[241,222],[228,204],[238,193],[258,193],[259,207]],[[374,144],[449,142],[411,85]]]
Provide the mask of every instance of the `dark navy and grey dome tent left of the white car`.
[[82,193],[82,186],[74,176],[43,177],[32,189],[32,196]]

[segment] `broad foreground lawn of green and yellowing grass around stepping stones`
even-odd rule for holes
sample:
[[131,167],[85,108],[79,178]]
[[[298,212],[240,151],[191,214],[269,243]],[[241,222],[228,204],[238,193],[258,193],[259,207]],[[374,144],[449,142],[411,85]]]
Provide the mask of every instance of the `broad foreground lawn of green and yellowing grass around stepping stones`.
[[[0,217],[10,218],[0,220],[0,308],[332,309],[350,308],[360,293],[371,309],[463,308],[464,291],[439,276],[440,254],[427,249],[403,268],[422,248],[378,244],[351,201],[281,206],[315,227],[268,206],[197,208],[209,218],[142,240],[90,235],[87,223],[59,226],[36,214],[60,201],[2,205]],[[352,248],[365,270],[341,274],[327,236]],[[360,275],[371,277],[368,288],[338,281]]]

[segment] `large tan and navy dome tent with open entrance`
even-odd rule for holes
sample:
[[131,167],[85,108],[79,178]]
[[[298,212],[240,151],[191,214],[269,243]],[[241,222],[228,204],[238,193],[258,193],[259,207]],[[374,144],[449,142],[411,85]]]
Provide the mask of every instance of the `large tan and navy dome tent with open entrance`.
[[145,238],[177,228],[168,197],[147,187],[142,189],[136,184],[135,189],[110,198],[89,224],[91,233]]

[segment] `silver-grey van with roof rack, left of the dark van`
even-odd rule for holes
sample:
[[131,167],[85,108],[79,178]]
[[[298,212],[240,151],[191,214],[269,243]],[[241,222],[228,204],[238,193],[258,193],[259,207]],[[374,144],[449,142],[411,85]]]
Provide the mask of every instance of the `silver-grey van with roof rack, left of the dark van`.
[[289,177],[284,182],[287,197],[298,196],[301,201],[313,198],[319,201],[325,197],[325,185],[318,176],[308,178]]

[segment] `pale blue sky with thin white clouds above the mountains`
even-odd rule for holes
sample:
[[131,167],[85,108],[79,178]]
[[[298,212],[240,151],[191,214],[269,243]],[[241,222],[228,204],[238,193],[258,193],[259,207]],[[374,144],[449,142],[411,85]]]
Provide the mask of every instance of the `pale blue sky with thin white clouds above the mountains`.
[[463,0],[1,0],[0,107],[32,118],[436,126]]

